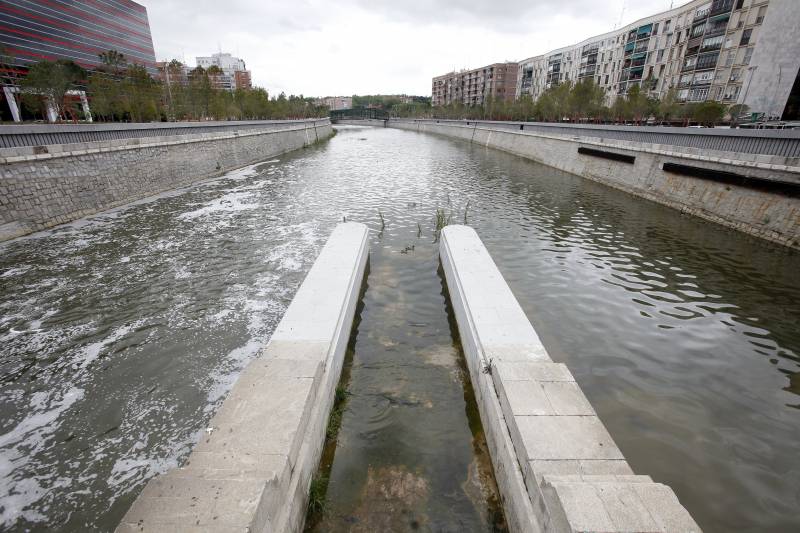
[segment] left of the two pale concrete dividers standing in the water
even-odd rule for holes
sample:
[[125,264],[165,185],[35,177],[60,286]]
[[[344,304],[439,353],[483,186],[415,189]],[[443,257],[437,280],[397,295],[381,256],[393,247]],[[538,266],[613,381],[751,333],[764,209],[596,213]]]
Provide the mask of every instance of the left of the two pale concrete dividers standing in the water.
[[300,531],[368,259],[363,224],[339,224],[269,344],[186,464],[152,479],[123,532]]

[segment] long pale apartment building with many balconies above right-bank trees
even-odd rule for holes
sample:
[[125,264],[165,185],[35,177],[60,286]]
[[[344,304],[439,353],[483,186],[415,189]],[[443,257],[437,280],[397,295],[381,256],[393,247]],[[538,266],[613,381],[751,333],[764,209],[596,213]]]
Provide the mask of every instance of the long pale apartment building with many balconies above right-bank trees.
[[590,78],[609,104],[633,86],[659,98],[675,88],[683,102],[744,103],[780,118],[800,87],[798,28],[797,0],[693,0],[520,61],[516,97]]

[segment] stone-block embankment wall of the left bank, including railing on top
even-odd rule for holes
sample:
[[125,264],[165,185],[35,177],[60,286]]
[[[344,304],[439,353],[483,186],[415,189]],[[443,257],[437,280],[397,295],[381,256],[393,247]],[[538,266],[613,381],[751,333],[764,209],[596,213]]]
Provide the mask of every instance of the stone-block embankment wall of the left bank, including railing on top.
[[[0,241],[222,175],[333,135],[328,119],[128,126],[0,127],[3,142],[16,145],[0,148]],[[79,138],[89,140],[72,142]],[[30,145],[62,140],[69,142]]]

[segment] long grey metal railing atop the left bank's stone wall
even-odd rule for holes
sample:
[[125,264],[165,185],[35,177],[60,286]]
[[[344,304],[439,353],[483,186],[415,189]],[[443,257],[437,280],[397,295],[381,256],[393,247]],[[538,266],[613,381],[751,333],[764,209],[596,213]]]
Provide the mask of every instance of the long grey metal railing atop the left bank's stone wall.
[[135,124],[21,124],[0,126],[0,149],[201,133],[268,131],[291,126],[322,126],[329,123],[330,120],[328,118],[319,118],[304,120],[153,122]]

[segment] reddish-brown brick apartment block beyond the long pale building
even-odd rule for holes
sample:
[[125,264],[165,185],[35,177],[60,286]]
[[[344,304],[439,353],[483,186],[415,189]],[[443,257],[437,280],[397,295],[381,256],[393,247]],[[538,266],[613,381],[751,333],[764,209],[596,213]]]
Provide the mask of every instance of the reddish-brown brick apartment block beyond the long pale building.
[[482,105],[487,98],[513,100],[517,87],[517,63],[494,63],[473,70],[450,72],[433,78],[431,104]]

